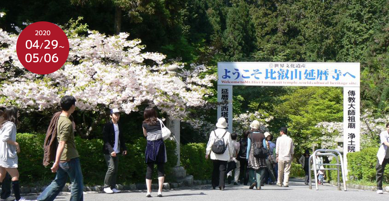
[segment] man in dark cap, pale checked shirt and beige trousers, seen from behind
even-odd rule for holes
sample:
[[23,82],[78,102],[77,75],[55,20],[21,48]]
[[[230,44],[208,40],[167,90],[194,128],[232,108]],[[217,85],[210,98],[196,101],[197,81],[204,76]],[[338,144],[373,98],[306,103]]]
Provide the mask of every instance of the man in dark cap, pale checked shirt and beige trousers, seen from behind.
[[287,136],[288,129],[282,127],[280,129],[280,137],[277,138],[275,143],[275,153],[277,154],[278,162],[278,181],[277,185],[282,186],[284,181],[284,187],[289,187],[289,173],[292,166],[294,145],[292,138]]

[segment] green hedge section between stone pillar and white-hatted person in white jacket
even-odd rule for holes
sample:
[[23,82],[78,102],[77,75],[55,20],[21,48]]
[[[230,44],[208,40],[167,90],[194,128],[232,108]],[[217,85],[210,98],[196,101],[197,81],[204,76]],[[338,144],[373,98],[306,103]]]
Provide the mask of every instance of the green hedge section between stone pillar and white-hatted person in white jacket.
[[212,176],[212,160],[205,159],[206,147],[207,143],[189,143],[180,147],[181,166],[196,180],[210,179]]

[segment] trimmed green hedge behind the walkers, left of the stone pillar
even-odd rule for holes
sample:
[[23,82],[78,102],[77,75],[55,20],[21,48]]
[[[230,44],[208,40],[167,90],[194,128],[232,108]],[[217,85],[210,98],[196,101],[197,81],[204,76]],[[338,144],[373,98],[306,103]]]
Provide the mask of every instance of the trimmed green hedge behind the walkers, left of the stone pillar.
[[[53,180],[54,173],[50,167],[42,165],[44,135],[17,134],[16,141],[20,145],[19,173],[22,183],[35,183]],[[86,185],[102,185],[107,171],[103,157],[101,139],[86,140],[75,138],[77,150],[80,155],[81,169]],[[165,164],[166,175],[169,175],[171,168],[177,164],[175,155],[176,144],[174,141],[165,141],[168,162]],[[146,139],[136,139],[133,144],[126,144],[128,154],[120,156],[118,183],[144,182],[146,174],[145,147]],[[154,173],[156,174],[156,173]],[[155,176],[156,178],[156,176]]]

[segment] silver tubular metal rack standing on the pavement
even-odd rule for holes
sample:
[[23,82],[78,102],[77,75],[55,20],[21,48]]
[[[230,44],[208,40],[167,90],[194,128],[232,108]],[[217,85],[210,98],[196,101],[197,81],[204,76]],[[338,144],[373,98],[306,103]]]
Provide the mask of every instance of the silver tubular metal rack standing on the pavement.
[[[317,153],[317,152],[323,152],[323,153]],[[338,156],[340,158],[340,163],[339,163],[339,158],[338,158],[337,155],[335,155],[335,153],[338,154]],[[316,156],[333,156],[336,159],[336,164],[316,163]],[[313,169],[311,169],[311,160],[313,160],[313,166],[314,166]],[[316,190],[319,190],[319,185],[317,183],[317,168],[316,168],[316,166],[318,165],[319,167],[320,166],[336,166],[336,168],[324,168],[323,170],[337,170],[337,173],[338,173],[338,190],[340,190],[340,170],[339,170],[339,166],[340,166],[340,168],[342,168],[342,179],[343,179],[344,191],[347,190],[346,179],[345,179],[345,171],[344,171],[344,166],[343,166],[343,157],[342,157],[342,154],[339,151],[332,150],[332,149],[318,149],[318,150],[315,150],[315,152],[309,157],[308,165],[309,165],[309,170],[308,170],[308,173],[309,173],[309,189],[312,189],[311,170],[313,170],[314,173],[315,173]]]

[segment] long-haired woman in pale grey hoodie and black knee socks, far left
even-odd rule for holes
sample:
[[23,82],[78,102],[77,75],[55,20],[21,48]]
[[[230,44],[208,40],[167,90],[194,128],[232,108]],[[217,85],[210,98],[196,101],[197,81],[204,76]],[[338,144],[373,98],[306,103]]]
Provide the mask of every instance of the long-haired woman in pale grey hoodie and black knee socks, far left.
[[4,120],[0,122],[0,185],[7,172],[12,177],[12,189],[16,200],[25,200],[20,197],[18,153],[19,144],[16,142],[16,125],[18,125],[18,108],[8,106],[4,110]]

